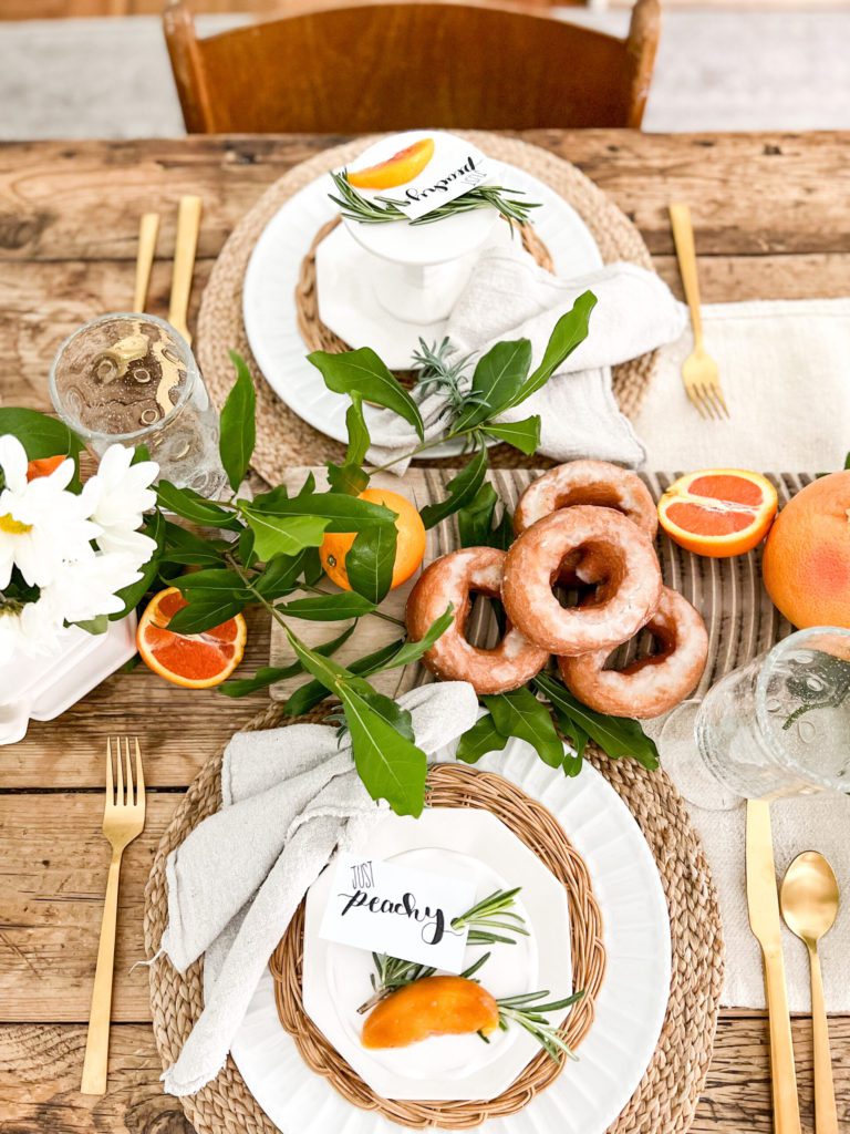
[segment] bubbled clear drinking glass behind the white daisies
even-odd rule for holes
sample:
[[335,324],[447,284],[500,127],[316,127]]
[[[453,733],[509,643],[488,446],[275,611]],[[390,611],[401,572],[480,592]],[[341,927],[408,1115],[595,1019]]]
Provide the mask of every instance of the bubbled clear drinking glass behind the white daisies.
[[160,477],[214,498],[226,483],[219,415],[186,340],[155,315],[117,313],[62,342],[50,371],[62,421],[95,456],[144,445]]

